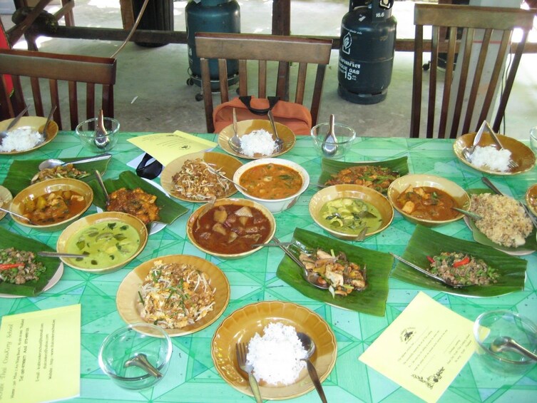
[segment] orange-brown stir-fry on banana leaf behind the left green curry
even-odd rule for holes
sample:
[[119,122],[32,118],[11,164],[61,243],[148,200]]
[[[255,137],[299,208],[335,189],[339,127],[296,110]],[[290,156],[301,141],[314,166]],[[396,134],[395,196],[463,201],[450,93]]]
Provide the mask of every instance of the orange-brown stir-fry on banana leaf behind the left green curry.
[[155,204],[157,196],[150,195],[140,188],[121,188],[110,194],[106,211],[119,211],[140,218],[144,224],[158,221],[160,208]]

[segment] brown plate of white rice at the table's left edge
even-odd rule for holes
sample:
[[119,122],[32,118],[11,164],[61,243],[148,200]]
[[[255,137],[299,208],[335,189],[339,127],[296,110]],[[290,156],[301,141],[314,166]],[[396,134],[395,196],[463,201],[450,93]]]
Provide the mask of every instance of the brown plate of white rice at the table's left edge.
[[[6,130],[12,120],[1,121],[0,131]],[[23,116],[2,140],[0,154],[29,153],[50,143],[58,134],[58,125],[51,121],[44,136],[40,132],[45,122],[46,118],[41,116]]]

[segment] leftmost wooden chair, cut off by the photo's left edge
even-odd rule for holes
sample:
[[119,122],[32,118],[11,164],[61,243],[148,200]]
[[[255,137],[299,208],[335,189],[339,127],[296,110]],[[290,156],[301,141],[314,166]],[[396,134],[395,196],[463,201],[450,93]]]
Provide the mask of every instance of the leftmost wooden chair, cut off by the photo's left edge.
[[[93,56],[77,56],[36,51],[19,51],[0,49],[0,113],[1,118],[12,118],[26,106],[21,77],[29,78],[34,97],[35,113],[46,116],[44,101],[41,96],[41,79],[48,80],[50,105],[56,105],[54,121],[61,123],[60,90],[67,86],[71,130],[79,122],[77,83],[86,83],[86,118],[97,116],[96,84],[102,86],[101,106],[104,116],[113,118],[113,86],[116,83],[116,59]],[[11,75],[14,91],[6,92],[4,74]],[[58,81],[62,86],[58,86]],[[46,86],[45,86],[46,87]],[[63,97],[66,98],[66,97]],[[86,119],[85,118],[85,119]]]

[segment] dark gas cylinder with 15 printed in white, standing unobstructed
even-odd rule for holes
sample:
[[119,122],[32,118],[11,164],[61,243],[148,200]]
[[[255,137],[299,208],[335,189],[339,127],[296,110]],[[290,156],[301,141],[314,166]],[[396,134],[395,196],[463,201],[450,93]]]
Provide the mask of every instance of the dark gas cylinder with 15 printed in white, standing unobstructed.
[[350,0],[341,27],[339,96],[354,103],[384,101],[392,81],[397,21],[393,0]]

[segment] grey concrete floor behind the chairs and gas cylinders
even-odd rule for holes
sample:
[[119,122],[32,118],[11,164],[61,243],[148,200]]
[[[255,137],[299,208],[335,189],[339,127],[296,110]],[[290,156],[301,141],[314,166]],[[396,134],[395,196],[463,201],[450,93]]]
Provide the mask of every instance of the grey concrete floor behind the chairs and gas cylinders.
[[[185,31],[186,4],[186,1],[174,2],[176,31]],[[270,34],[272,0],[240,0],[239,4],[242,32]],[[293,0],[292,34],[339,36],[341,20],[348,11],[348,4],[347,0]],[[57,8],[49,6],[48,11],[53,12]],[[393,14],[398,21],[398,38],[413,36],[412,10],[412,1],[395,2]],[[78,26],[122,26],[119,1],[77,0],[74,14]],[[10,16],[1,18],[6,29],[9,28]],[[121,43],[118,42],[81,39],[41,38],[39,41],[42,51],[95,56],[111,56],[119,46]],[[25,43],[19,42],[15,47],[25,49]],[[203,102],[195,101],[200,88],[187,85],[187,51],[187,46],[183,44],[146,48],[130,43],[118,54],[115,109],[123,131],[207,131]],[[359,136],[408,136],[412,58],[411,52],[397,52],[387,99],[374,105],[359,105],[344,101],[337,95],[338,51],[332,51],[325,76],[319,122],[327,121],[329,115],[334,113],[337,121],[352,126]],[[536,62],[537,55],[524,55],[518,69],[506,111],[505,126],[501,130],[509,136],[528,138],[530,128],[537,126]]]

